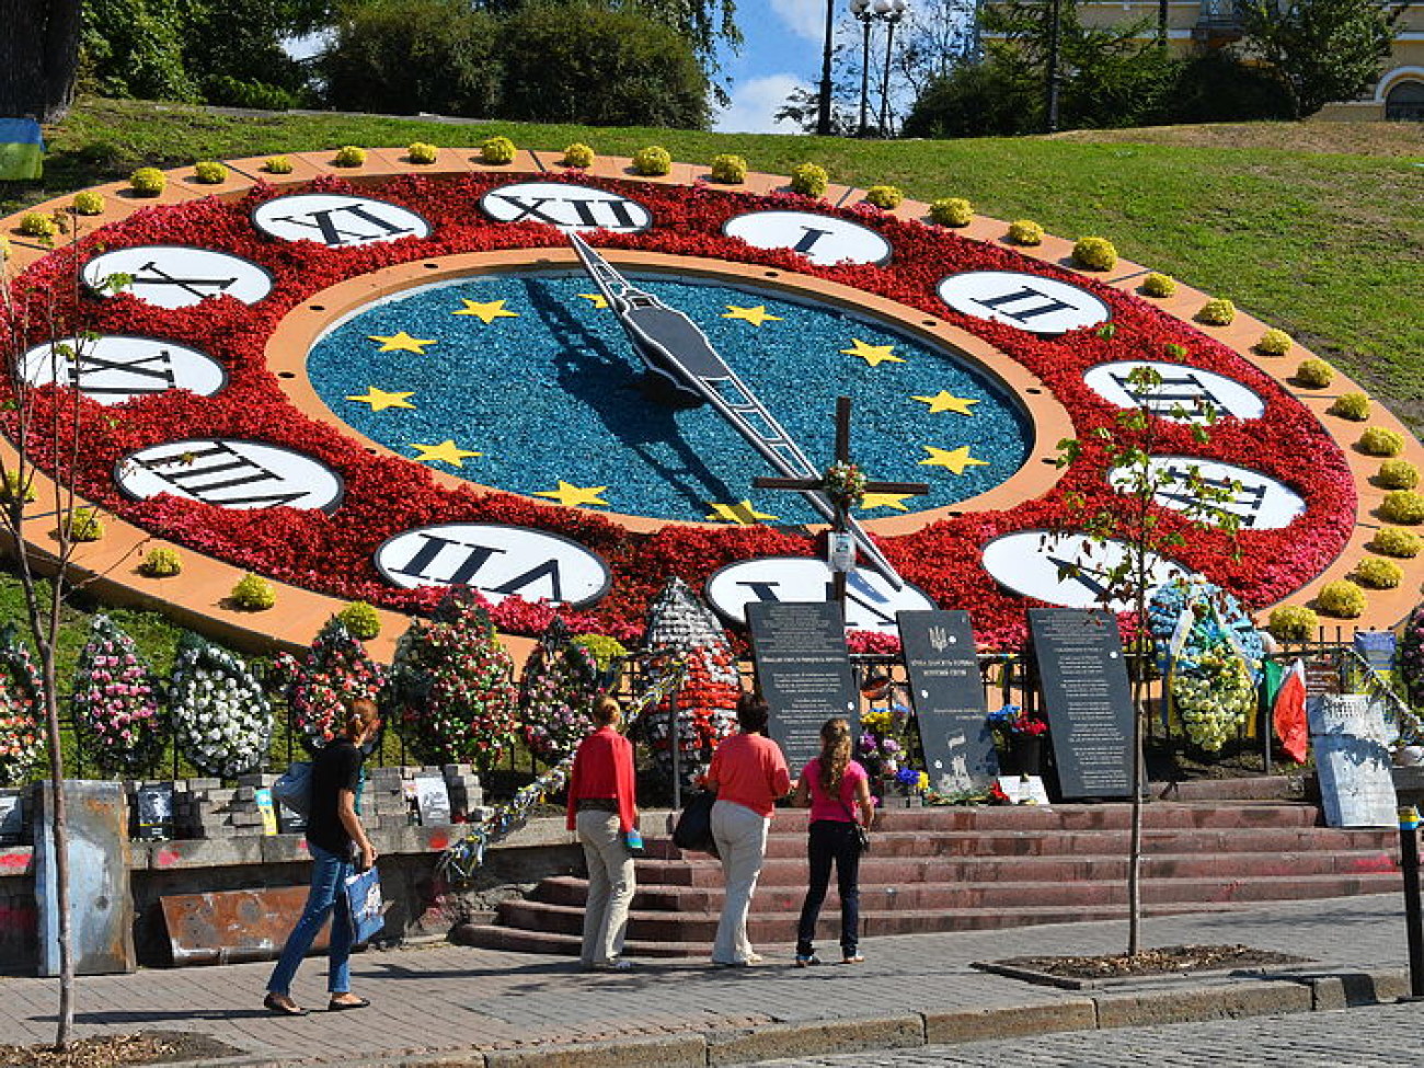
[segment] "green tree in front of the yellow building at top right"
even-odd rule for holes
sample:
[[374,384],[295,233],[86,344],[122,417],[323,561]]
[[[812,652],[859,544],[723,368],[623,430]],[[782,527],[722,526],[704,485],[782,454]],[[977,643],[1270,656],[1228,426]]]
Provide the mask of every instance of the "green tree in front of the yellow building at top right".
[[1408,3],[1388,11],[1378,0],[1240,4],[1245,44],[1290,91],[1296,118],[1358,97],[1380,75],[1405,9]]

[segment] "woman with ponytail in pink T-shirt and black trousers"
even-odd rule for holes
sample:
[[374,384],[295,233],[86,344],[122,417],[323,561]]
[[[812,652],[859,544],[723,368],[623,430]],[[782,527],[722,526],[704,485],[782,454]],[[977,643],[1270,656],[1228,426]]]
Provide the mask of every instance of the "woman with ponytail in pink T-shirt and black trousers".
[[866,769],[850,759],[850,723],[839,716],[820,728],[820,756],[807,762],[796,783],[792,805],[810,805],[807,853],[810,877],[806,900],[802,903],[796,930],[796,967],[820,964],[812,947],[816,920],[826,901],[830,864],[836,864],[836,889],[840,893],[840,958],[846,964],[864,960],[857,948],[860,927],[860,837],[856,834],[856,815],[869,827],[876,815],[870,797],[870,778]]

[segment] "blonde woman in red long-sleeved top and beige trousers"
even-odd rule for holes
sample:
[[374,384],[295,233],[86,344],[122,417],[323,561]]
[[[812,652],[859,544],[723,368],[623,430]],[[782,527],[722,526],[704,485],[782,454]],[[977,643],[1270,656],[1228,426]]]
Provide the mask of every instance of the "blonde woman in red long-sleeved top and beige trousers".
[[612,698],[594,705],[594,733],[578,743],[568,779],[568,829],[578,832],[588,862],[588,901],[584,907],[585,968],[624,971],[628,906],[637,883],[632,853],[624,836],[638,826],[632,743],[618,733],[622,713]]

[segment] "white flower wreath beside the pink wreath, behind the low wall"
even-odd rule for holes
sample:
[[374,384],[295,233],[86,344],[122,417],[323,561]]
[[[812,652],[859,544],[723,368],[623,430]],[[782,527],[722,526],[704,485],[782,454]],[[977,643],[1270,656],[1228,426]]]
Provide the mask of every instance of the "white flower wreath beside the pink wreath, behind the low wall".
[[244,661],[188,635],[168,702],[178,748],[198,770],[231,779],[261,766],[272,742],[272,705]]

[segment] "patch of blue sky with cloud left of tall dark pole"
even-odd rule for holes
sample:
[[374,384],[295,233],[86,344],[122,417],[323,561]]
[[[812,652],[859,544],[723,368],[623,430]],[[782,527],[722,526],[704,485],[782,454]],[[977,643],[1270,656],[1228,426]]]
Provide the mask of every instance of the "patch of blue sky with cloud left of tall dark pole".
[[[836,0],[837,21],[846,20],[846,0]],[[824,0],[740,0],[736,23],[746,43],[740,56],[722,56],[732,78],[732,105],[715,130],[739,134],[795,134],[795,127],[772,122],[772,115],[797,85],[820,81],[826,33]]]

